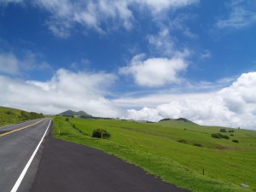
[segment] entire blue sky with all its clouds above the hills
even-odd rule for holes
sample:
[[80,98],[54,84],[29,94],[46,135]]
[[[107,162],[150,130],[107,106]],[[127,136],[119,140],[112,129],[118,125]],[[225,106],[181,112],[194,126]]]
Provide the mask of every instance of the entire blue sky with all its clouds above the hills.
[[254,129],[255,32],[253,0],[0,0],[0,105]]

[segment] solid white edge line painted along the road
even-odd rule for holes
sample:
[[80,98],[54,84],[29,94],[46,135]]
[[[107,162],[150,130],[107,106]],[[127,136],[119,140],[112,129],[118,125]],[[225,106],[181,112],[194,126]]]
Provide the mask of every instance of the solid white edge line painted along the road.
[[[50,119],[49,125],[50,125],[51,121],[52,121],[52,119]],[[16,192],[16,191],[19,189],[20,183],[22,182],[22,179],[25,177],[26,172],[27,172],[29,166],[30,166],[31,163],[32,163],[32,160],[34,159],[35,155],[36,155],[37,152],[38,152],[38,148],[40,147],[41,143],[42,143],[43,140],[44,140],[44,137],[45,137],[47,131],[49,130],[49,125],[48,125],[46,131],[44,132],[44,136],[42,137],[41,141],[38,143],[38,147],[35,149],[34,153],[33,153],[32,156],[30,157],[30,159],[27,161],[26,166],[24,167],[23,171],[20,173],[20,177],[18,178],[18,180],[17,180],[16,183],[15,183],[15,186],[13,187],[13,189],[12,189],[10,192]]]

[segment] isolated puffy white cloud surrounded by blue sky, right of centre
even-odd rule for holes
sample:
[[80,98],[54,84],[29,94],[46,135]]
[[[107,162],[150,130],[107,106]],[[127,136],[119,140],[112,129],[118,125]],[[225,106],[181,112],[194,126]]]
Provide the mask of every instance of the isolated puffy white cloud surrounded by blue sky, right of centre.
[[138,85],[157,87],[180,83],[182,79],[178,75],[188,66],[181,55],[171,59],[149,58],[143,60],[143,57],[144,55],[134,56],[128,66],[119,69],[119,73],[131,75]]

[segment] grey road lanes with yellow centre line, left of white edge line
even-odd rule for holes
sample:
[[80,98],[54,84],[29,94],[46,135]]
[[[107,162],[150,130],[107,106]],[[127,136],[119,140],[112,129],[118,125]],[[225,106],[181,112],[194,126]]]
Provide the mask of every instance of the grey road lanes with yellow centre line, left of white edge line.
[[[8,192],[13,189],[15,183],[24,170],[28,160],[41,141],[49,125],[50,119],[37,119],[18,125],[0,127],[0,191]],[[39,148],[42,151],[42,148]],[[40,156],[36,155],[32,167],[38,163]],[[22,188],[18,191],[26,191],[31,188],[37,169],[31,170],[23,179]],[[26,181],[24,183],[24,181]]]

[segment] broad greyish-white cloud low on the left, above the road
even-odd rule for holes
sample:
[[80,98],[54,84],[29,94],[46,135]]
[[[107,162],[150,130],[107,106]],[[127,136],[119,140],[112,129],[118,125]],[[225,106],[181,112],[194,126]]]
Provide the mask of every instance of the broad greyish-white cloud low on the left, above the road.
[[109,73],[73,73],[60,69],[47,82],[23,81],[0,75],[0,105],[42,113],[67,109],[116,117],[119,110],[105,96],[115,77]]

